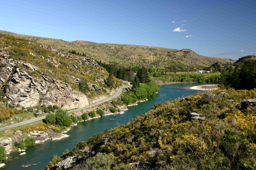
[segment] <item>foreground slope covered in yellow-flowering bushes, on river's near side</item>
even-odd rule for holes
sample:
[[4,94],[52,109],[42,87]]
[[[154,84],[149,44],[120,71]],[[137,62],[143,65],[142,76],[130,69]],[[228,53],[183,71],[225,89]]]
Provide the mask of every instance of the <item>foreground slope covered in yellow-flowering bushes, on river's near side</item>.
[[71,158],[74,169],[255,169],[256,103],[241,105],[250,98],[256,89],[219,89],[157,104],[79,142],[47,169]]

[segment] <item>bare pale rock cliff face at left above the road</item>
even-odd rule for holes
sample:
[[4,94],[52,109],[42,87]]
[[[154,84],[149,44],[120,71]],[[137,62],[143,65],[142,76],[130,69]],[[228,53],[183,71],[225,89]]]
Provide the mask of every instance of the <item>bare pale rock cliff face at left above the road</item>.
[[26,66],[29,71],[38,70],[30,63],[21,63],[13,59],[3,58],[4,64],[0,72],[0,88],[5,86],[5,94],[9,104],[22,107],[36,105],[57,105],[62,109],[83,107],[88,105],[87,97],[73,90],[67,83],[51,79],[44,75],[36,78],[28,72],[16,68],[18,65]]

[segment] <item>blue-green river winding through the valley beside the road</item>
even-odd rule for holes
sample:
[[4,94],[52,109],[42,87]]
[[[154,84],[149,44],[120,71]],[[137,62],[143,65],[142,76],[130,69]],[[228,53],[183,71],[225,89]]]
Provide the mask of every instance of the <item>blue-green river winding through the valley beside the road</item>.
[[[62,155],[65,149],[72,150],[79,141],[86,141],[91,136],[111,128],[129,122],[130,119],[136,118],[137,115],[145,114],[149,109],[157,103],[171,101],[178,97],[185,97],[194,94],[197,90],[189,90],[190,86],[197,86],[202,84],[170,84],[163,85],[155,97],[151,97],[146,102],[139,103],[137,106],[128,107],[128,111],[124,114],[104,116],[98,119],[78,123],[77,126],[72,127],[66,134],[69,137],[58,141],[47,140],[43,144],[35,144],[26,150],[26,154],[19,156],[18,152],[11,152],[12,161],[5,161],[6,164],[3,169],[6,170],[40,170],[46,167],[53,155]],[[29,165],[22,167],[22,165]]]

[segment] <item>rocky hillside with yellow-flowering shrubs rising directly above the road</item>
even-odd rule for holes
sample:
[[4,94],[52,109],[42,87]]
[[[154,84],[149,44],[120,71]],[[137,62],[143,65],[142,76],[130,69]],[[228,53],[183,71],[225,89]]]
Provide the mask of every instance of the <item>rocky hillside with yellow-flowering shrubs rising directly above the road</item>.
[[[17,107],[79,108],[122,85],[106,85],[109,73],[87,57],[0,34],[1,101]],[[1,103],[2,105],[2,103]]]

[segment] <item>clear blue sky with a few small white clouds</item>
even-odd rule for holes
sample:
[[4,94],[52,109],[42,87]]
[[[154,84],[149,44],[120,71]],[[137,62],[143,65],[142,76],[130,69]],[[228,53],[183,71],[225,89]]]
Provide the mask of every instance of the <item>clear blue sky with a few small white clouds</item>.
[[255,0],[0,0],[0,30],[62,39],[256,55]]

